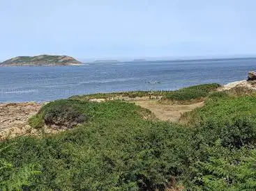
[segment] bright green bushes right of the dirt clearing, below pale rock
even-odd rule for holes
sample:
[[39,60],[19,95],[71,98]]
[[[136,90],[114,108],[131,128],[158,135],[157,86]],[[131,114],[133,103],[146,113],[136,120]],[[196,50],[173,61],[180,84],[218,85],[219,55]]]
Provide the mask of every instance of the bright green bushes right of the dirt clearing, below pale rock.
[[[183,119],[189,122],[211,120],[234,120],[238,115],[256,116],[256,96],[254,93],[240,92],[214,92],[205,102],[205,106],[185,113]],[[243,91],[242,91],[243,92]]]

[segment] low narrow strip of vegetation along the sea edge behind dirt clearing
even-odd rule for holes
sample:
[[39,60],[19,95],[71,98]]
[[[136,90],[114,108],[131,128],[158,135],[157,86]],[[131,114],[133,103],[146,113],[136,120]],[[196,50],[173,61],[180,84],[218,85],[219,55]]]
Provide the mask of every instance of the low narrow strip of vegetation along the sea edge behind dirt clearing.
[[220,85],[218,83],[203,84],[190,86],[188,88],[182,88],[175,91],[135,91],[135,92],[115,92],[115,93],[105,93],[105,94],[89,94],[73,96],[70,99],[88,101],[90,99],[111,99],[115,97],[160,97],[162,100],[172,100],[172,101],[190,101],[191,99],[202,99],[207,97],[210,92],[213,92]]

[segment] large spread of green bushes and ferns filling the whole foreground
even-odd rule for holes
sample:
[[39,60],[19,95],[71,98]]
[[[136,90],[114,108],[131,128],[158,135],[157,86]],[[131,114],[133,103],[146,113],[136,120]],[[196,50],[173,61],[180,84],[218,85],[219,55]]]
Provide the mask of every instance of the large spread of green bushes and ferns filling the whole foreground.
[[198,87],[177,91],[209,96],[205,106],[186,114],[184,125],[144,119],[148,110],[125,101],[73,97],[48,103],[32,122],[41,124],[58,108],[72,108],[88,120],[54,135],[1,142],[0,148],[8,147],[1,161],[15,170],[0,180],[6,186],[12,174],[34,165],[28,172],[38,173],[9,190],[255,190],[254,94]]

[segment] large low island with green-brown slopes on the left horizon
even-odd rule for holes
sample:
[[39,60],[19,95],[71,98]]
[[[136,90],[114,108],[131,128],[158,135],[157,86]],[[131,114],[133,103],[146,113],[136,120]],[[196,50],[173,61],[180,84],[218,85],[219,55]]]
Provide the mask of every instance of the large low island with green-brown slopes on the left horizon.
[[82,65],[70,56],[17,56],[0,63],[0,66],[51,66],[51,65]]

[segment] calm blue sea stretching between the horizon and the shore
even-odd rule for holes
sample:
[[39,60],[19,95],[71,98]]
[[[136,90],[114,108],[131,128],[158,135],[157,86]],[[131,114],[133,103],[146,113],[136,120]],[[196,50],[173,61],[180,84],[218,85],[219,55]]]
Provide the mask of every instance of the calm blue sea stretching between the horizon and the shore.
[[246,79],[255,59],[154,61],[66,67],[0,67],[0,102],[50,101],[75,94],[176,90]]

